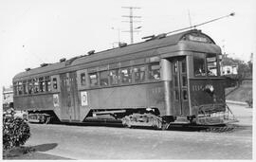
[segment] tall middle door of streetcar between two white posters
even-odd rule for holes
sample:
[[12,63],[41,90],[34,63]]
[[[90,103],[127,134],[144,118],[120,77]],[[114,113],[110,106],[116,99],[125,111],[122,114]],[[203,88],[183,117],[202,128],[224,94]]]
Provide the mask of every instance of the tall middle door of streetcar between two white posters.
[[76,73],[64,73],[61,78],[61,115],[64,120],[79,120],[79,101]]

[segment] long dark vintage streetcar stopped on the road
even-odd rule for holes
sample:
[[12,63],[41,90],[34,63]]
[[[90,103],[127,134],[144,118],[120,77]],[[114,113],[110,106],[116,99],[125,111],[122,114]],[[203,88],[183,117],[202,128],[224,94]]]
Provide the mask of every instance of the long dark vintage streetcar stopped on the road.
[[28,121],[119,120],[124,126],[235,121],[220,76],[220,46],[201,30],[27,68],[13,78],[14,107]]

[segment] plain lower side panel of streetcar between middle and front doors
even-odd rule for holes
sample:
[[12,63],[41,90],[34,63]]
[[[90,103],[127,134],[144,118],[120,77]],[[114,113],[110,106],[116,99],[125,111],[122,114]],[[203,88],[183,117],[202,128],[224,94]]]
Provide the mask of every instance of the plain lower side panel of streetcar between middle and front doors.
[[[164,91],[161,81],[93,89],[81,91],[81,94],[82,93],[88,94],[88,106],[86,107],[91,109],[155,107],[159,109],[160,114],[165,114]],[[87,100],[85,102],[87,102]]]

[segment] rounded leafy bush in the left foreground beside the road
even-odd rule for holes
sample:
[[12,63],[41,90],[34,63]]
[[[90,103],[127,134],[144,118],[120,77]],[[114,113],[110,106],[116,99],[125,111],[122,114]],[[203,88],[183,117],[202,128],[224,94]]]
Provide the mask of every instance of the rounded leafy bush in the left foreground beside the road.
[[20,117],[14,117],[11,110],[3,117],[3,146],[4,150],[24,145],[30,137],[30,128],[27,122]]

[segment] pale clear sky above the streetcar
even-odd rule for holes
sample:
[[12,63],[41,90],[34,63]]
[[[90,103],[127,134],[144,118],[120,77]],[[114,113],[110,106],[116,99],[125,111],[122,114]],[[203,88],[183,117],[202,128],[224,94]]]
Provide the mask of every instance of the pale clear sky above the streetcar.
[[130,44],[129,9],[134,9],[134,34],[144,36],[190,27],[208,34],[223,52],[247,62],[256,53],[256,1],[254,0],[0,0],[1,86],[27,67],[57,63],[106,50],[121,41]]

